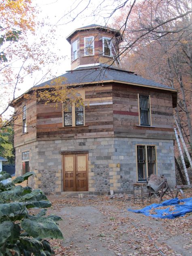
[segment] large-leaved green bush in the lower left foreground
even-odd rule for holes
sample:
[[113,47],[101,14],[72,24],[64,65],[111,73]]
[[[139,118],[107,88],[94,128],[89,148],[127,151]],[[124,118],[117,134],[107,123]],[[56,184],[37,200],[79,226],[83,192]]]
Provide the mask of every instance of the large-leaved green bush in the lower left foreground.
[[[10,178],[8,173],[0,173],[0,181]],[[26,173],[12,182],[0,182],[0,256],[51,256],[54,254],[45,238],[63,239],[57,222],[59,216],[45,216],[51,207],[45,194],[15,183],[27,180],[34,173]],[[28,209],[43,208],[36,215]]]

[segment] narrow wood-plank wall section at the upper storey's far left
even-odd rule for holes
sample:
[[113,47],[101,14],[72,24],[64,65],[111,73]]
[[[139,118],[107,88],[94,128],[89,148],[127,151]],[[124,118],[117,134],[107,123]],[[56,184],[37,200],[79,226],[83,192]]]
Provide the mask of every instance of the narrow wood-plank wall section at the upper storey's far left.
[[[27,106],[27,132],[22,133],[23,106]],[[22,100],[15,106],[14,147],[36,141],[36,100]]]

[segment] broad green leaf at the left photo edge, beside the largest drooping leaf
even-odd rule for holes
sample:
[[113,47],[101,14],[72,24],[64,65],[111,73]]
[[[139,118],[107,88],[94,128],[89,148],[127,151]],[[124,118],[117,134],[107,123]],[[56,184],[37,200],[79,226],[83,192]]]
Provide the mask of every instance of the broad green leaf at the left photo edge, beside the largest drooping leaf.
[[0,245],[8,240],[17,239],[20,235],[20,227],[11,221],[0,223]]

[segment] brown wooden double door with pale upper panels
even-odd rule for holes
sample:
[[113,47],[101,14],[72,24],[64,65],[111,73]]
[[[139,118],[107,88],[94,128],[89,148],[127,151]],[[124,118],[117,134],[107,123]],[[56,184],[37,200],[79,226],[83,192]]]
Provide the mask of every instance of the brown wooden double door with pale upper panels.
[[63,155],[64,191],[88,191],[87,154]]

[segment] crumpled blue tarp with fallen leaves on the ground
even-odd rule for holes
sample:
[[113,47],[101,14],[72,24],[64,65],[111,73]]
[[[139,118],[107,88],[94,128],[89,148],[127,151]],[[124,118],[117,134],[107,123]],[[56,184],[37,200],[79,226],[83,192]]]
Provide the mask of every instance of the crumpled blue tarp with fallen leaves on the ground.
[[[174,209],[172,207],[174,206]],[[165,207],[165,209],[158,209],[159,207]],[[171,209],[170,209],[171,206]],[[143,213],[147,216],[162,219],[174,219],[175,217],[184,216],[188,212],[192,212],[192,197],[179,200],[178,198],[166,200],[161,204],[152,204],[144,207],[140,210],[128,209],[135,213]]]

